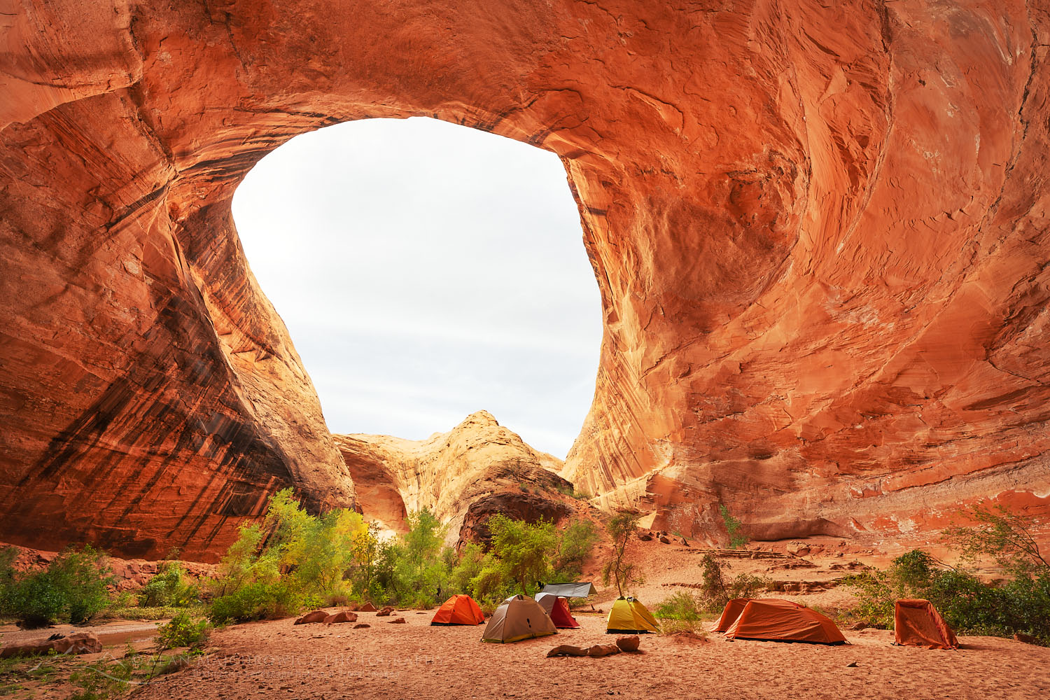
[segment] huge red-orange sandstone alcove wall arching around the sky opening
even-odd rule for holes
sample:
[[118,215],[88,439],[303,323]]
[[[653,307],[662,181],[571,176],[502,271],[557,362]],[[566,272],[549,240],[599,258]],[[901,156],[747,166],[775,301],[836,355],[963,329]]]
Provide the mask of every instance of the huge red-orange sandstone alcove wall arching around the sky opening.
[[0,538],[205,556],[280,486],[354,503],[230,198],[414,114],[565,161],[605,323],[578,488],[770,537],[1045,513],[1047,10],[823,4],[12,5]]

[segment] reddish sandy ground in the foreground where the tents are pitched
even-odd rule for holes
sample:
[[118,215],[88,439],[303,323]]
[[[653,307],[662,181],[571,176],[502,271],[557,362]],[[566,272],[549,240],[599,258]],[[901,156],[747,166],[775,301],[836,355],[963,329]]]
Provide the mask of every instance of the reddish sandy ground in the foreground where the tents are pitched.
[[[406,624],[361,613],[371,628],[231,627],[195,666],[136,698],[925,698],[1050,697],[1050,649],[963,637],[954,652],[890,645],[892,633],[847,632],[850,645],[711,641],[644,635],[640,654],[546,658],[556,644],[609,643],[604,616],[580,630],[514,644],[480,641],[481,628],[430,627],[432,613],[398,613]],[[856,666],[849,664],[856,662]]]

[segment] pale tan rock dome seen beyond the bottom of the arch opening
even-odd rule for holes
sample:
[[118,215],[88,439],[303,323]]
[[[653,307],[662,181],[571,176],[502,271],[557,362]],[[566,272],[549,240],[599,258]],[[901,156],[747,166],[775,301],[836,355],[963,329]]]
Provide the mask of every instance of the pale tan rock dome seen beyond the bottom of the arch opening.
[[558,458],[529,447],[491,413],[471,413],[426,440],[333,436],[370,521],[404,532],[411,511],[428,508],[448,524],[449,544],[486,542],[489,516],[536,522],[574,511],[572,485],[558,475]]

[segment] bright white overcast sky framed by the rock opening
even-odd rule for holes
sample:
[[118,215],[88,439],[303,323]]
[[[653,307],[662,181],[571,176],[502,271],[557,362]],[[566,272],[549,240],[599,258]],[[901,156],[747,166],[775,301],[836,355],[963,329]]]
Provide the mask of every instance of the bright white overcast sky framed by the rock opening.
[[601,301],[558,157],[414,118],[296,136],[233,198],[332,432],[419,440],[486,409],[565,458]]

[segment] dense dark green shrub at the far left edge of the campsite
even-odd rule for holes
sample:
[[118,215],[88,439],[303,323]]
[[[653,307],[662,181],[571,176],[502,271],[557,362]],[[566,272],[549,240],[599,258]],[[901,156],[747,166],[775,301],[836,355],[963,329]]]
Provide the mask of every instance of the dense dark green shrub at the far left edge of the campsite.
[[109,604],[108,588],[116,582],[105,553],[85,545],[60,553],[44,571],[17,575],[17,550],[0,555],[0,613],[26,627],[51,622],[82,624]]

